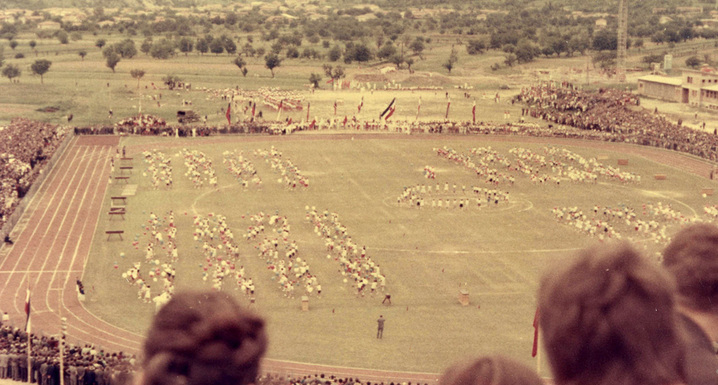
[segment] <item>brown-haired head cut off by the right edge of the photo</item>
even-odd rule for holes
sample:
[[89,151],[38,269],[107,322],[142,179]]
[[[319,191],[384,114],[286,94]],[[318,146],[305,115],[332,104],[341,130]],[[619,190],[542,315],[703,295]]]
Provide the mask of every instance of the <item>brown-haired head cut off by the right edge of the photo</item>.
[[682,305],[718,312],[718,227],[695,224],[673,237],[663,266],[675,277]]

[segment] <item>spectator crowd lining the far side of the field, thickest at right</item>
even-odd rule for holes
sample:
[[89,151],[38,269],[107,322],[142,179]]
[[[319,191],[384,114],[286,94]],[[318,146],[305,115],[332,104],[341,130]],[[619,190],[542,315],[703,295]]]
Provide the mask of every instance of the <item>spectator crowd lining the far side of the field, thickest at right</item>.
[[[152,125],[141,132],[146,135],[215,135],[215,134],[288,134],[294,131],[345,129],[428,134],[523,135],[561,137],[609,142],[625,142],[686,152],[708,160],[718,160],[718,135],[674,123],[657,111],[639,107],[639,99],[616,89],[595,92],[578,90],[569,83],[544,83],[524,88],[514,101],[523,102],[518,123],[490,124],[457,120],[404,121],[322,119],[292,122],[255,120],[230,125],[206,124]],[[531,116],[551,122],[548,127],[524,123]],[[131,134],[131,128],[76,128],[76,134]]]

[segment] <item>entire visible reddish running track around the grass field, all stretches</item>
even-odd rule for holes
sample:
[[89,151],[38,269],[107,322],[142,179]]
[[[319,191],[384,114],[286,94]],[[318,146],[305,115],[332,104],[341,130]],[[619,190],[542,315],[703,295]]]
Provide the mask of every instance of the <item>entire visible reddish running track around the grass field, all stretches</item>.
[[[306,135],[292,139],[318,140],[347,138],[347,135]],[[358,135],[361,138],[387,138],[386,135]],[[406,137],[401,137],[406,138]],[[412,137],[417,138],[417,137]],[[418,136],[419,139],[439,139]],[[604,142],[551,140],[527,137],[464,137],[472,140],[508,140],[516,142],[584,145],[596,149],[616,149]],[[267,140],[267,137],[222,138],[231,140]],[[292,140],[288,137],[272,139]],[[455,139],[452,137],[451,139]],[[32,328],[45,334],[60,331],[60,313],[67,318],[68,339],[93,343],[108,351],[137,353],[143,336],[117,328],[88,312],[78,301],[75,279],[82,276],[96,233],[102,201],[110,174],[110,158],[119,137],[75,137],[60,155],[51,175],[40,186],[21,223],[27,225],[14,239],[7,256],[0,261],[0,309],[14,320],[24,319],[24,302],[28,286],[32,289]],[[639,146],[622,146],[620,150],[643,156],[695,174],[707,175],[707,162],[672,151]],[[131,152],[142,151],[132,148]],[[7,246],[5,246],[7,247]],[[366,381],[412,381],[434,383],[432,373],[391,372],[373,369],[329,367],[267,359],[264,370],[274,373],[311,375],[315,373],[358,377]]]

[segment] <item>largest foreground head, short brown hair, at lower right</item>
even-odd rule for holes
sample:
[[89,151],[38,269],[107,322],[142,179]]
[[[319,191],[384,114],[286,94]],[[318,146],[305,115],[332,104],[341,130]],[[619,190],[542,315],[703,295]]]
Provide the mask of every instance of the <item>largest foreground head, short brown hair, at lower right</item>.
[[628,244],[601,245],[545,274],[540,327],[556,383],[669,385],[685,379],[673,281]]

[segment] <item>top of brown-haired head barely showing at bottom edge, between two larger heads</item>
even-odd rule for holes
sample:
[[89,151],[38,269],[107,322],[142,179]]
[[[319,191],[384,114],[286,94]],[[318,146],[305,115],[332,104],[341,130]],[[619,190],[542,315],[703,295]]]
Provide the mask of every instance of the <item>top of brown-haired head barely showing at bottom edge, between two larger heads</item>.
[[486,356],[452,365],[439,385],[543,385],[541,378],[520,362]]

